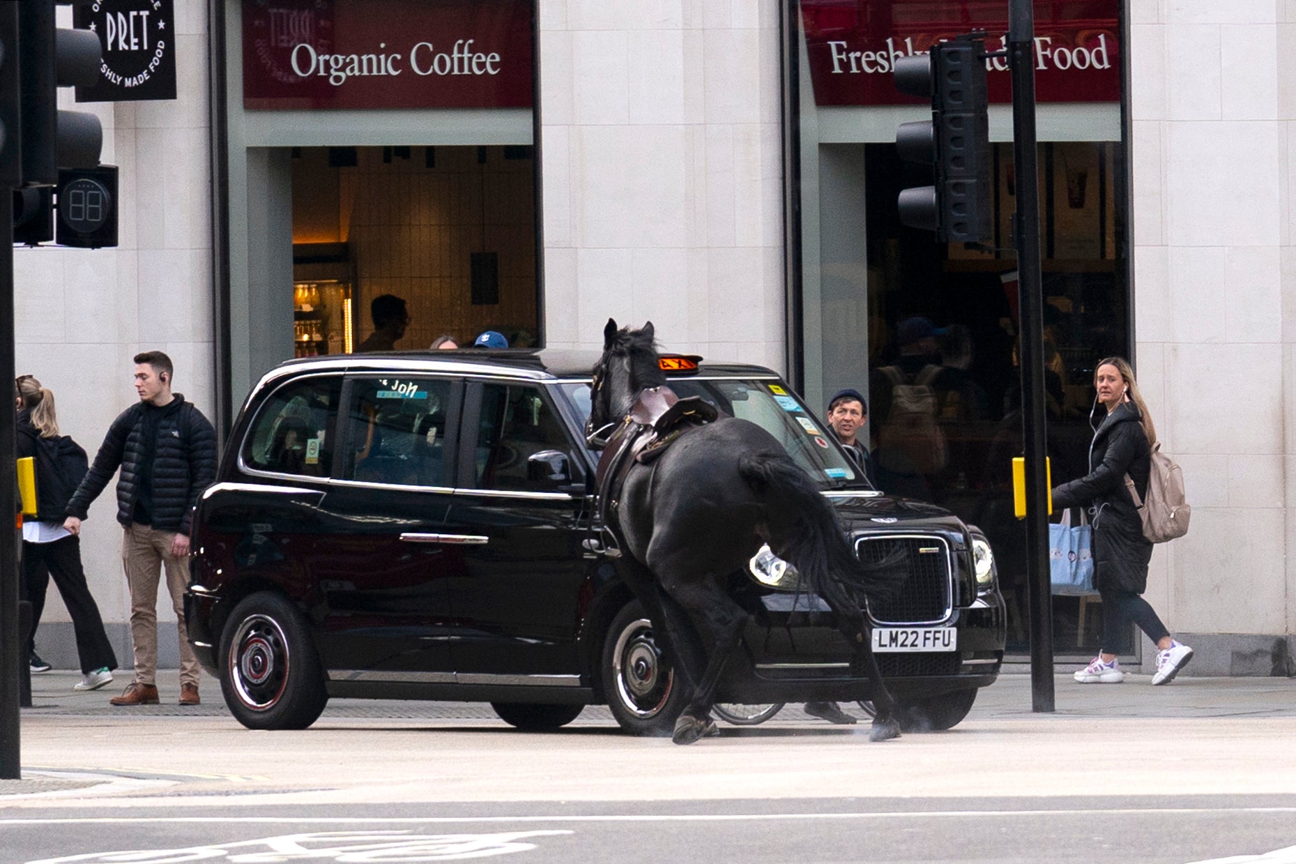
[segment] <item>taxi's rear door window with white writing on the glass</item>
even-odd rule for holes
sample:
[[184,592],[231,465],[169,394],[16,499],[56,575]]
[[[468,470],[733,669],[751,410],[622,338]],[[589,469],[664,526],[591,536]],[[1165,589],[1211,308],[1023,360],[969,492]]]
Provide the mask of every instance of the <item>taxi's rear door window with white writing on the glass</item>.
[[345,479],[407,486],[450,485],[448,380],[356,378],[351,381],[350,402]]

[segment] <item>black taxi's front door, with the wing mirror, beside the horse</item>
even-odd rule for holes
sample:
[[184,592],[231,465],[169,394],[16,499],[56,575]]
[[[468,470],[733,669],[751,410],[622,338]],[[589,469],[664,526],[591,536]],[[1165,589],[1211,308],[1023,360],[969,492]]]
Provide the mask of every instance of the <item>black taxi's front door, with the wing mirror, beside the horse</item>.
[[469,381],[445,527],[472,538],[452,580],[460,684],[579,684],[577,630],[596,562],[581,546],[575,446],[542,387]]

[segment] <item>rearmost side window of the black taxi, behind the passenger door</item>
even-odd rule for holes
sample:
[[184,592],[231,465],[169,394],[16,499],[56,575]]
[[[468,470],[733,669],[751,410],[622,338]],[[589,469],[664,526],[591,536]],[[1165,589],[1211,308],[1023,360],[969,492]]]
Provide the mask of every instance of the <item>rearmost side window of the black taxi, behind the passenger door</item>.
[[307,378],[279,388],[257,414],[244,441],[244,464],[257,471],[328,477],[342,379]]

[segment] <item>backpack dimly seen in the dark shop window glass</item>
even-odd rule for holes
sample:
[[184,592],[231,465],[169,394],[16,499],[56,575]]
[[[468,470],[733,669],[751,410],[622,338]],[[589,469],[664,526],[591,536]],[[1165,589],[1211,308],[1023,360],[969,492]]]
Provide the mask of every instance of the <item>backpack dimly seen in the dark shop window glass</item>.
[[896,474],[940,474],[945,470],[946,448],[932,383],[941,367],[928,363],[912,380],[898,366],[879,371],[892,383],[890,411],[877,432],[879,464]]

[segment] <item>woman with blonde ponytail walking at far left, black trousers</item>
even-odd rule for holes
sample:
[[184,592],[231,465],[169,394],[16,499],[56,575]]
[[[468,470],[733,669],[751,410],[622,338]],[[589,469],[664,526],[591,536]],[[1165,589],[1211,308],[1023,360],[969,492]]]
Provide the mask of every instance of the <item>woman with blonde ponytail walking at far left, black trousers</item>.
[[[17,389],[17,451],[18,458],[35,457],[36,464],[36,518],[22,524],[22,580],[27,599],[31,601],[31,636],[27,654],[35,658],[36,625],[45,607],[45,589],[53,576],[64,605],[73,619],[76,633],[76,654],[80,658],[82,680],[75,690],[97,690],[113,680],[117,655],[104,632],[104,619],[86,584],[86,571],[80,560],[80,538],[64,528],[66,498],[75,490],[62,475],[66,459],[79,451],[80,472],[84,472],[84,450],[70,437],[60,437],[58,418],[54,414],[54,394],[31,375],[16,381]],[[73,457],[75,458],[75,457]],[[71,489],[67,486],[71,485]],[[48,511],[48,512],[47,512]],[[35,659],[32,663],[35,664]]]

